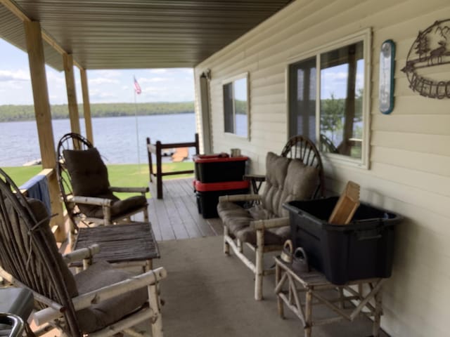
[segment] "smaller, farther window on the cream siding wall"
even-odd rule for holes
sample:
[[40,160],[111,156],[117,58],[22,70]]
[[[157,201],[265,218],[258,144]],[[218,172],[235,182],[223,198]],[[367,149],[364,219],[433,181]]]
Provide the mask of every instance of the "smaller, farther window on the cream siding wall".
[[224,131],[248,138],[248,74],[224,81]]

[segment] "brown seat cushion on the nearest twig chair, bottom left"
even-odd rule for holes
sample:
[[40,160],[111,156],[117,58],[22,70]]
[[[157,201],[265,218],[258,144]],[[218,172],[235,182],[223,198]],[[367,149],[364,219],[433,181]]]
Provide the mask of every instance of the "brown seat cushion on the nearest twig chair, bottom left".
[[[79,294],[82,295],[132,276],[131,272],[114,269],[109,263],[99,261],[91,265],[87,270],[83,270],[75,275],[75,281],[77,282]],[[134,310],[139,309],[147,300],[147,287],[143,287],[79,310],[77,318],[80,329],[82,329],[83,333],[103,329],[105,326],[113,324],[122,319],[122,317],[134,312]]]

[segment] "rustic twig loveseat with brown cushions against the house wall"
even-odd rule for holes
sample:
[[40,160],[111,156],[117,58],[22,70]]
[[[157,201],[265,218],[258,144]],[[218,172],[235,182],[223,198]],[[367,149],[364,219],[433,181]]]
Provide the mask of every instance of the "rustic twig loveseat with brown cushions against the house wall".
[[[263,277],[274,272],[273,268],[264,269],[264,253],[281,251],[290,235],[288,213],[282,204],[323,196],[319,151],[311,140],[295,136],[288,140],[281,156],[267,154],[265,176],[250,178],[265,180],[264,192],[219,197],[217,213],[224,223],[224,253],[229,254],[231,247],[255,273],[255,299],[261,300]],[[236,201],[254,206],[246,209]],[[244,255],[243,243],[255,252],[255,260]]]

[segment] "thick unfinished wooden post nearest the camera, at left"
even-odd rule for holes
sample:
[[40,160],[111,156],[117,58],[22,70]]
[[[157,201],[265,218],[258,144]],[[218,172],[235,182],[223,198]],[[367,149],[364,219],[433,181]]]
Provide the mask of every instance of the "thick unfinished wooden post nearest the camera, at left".
[[25,39],[27,41],[28,61],[30,62],[30,75],[33,90],[34,114],[36,117],[37,134],[43,169],[53,169],[49,179],[49,193],[51,213],[58,214],[50,221],[51,225],[58,225],[55,233],[56,240],[63,242],[66,238],[63,206],[59,198],[58,182],[56,180],[55,143],[53,128],[51,126],[51,112],[49,91],[45,72],[44,48],[42,46],[41,25],[39,22],[24,22]]

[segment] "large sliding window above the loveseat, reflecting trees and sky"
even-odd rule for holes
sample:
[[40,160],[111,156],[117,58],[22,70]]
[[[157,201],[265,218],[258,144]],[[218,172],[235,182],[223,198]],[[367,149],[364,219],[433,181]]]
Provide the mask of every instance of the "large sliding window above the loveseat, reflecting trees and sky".
[[330,157],[362,166],[368,157],[369,39],[364,32],[288,65],[290,136],[307,136]]

